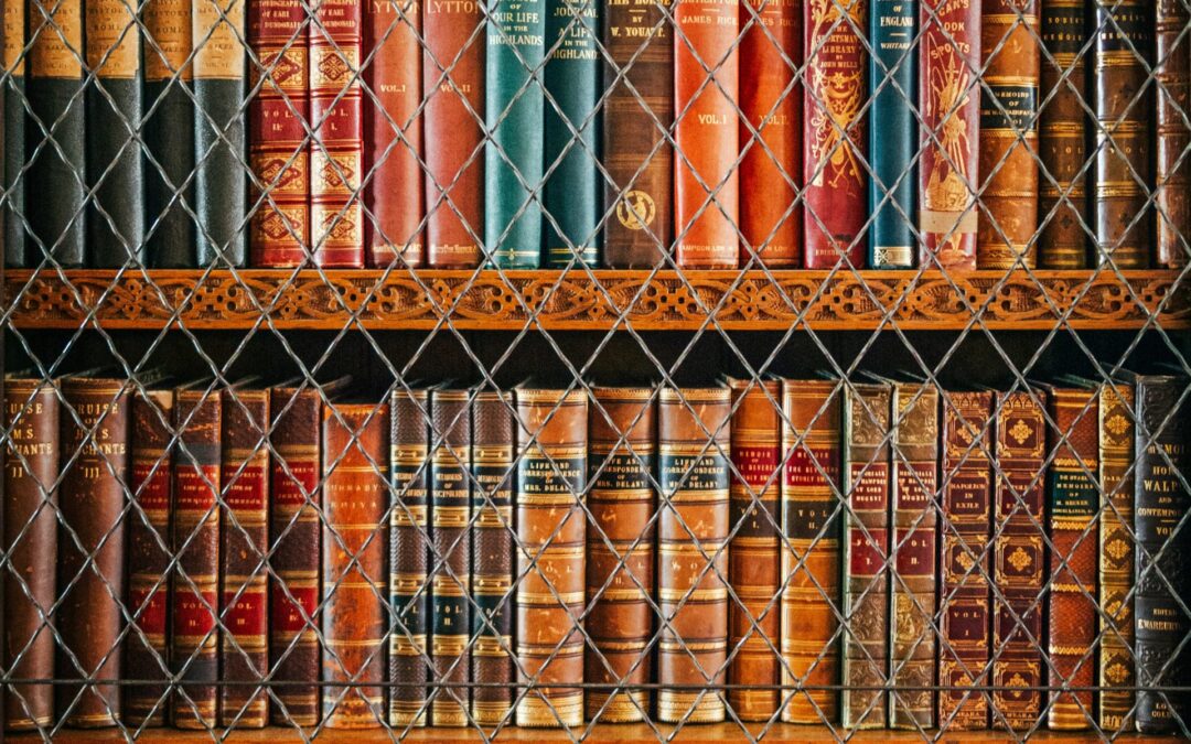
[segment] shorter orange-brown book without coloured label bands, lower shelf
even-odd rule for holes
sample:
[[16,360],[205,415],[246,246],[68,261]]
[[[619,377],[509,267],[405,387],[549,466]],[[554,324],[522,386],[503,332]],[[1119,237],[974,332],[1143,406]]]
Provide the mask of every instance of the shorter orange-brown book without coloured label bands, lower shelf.
[[385,720],[387,455],[388,404],[323,409],[320,621],[329,729],[373,729]]

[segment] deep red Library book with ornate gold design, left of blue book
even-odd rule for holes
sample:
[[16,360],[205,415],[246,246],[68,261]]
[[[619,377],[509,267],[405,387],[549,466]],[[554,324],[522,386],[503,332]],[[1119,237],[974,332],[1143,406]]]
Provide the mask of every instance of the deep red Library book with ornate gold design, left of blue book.
[[868,0],[806,0],[806,83],[803,88],[803,263],[830,269],[847,258],[865,265],[868,215],[865,162],[868,130],[861,102],[868,86]]

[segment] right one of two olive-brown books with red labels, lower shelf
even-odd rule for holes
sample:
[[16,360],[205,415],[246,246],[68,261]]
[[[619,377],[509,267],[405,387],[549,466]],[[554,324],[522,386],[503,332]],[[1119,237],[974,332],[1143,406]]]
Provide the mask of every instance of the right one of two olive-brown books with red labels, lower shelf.
[[896,398],[890,725],[917,731],[935,727],[939,390],[899,383]]

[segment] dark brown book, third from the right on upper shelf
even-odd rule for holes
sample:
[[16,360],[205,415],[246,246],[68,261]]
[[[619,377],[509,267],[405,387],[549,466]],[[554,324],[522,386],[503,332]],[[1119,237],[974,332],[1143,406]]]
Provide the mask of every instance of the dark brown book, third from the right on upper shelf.
[[[1039,101],[1039,220],[1045,223],[1039,242],[1039,264],[1047,269],[1087,267],[1087,158],[1086,67],[1090,52],[1084,0],[1047,0],[1042,4],[1042,60]],[[1049,220],[1049,221],[1047,221]]]

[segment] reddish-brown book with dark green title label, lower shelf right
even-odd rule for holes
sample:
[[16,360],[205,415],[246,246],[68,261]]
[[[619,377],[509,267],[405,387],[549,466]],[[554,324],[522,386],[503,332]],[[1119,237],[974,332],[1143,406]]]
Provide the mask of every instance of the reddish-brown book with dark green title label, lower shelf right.
[[[1092,690],[1097,619],[1097,544],[1093,521],[1099,508],[1097,390],[1056,388],[1050,394],[1054,429],[1047,470],[1050,532],[1050,595],[1047,609],[1047,654],[1052,687],[1047,724],[1052,730],[1087,729],[1092,723]],[[1090,533],[1091,532],[1091,533]]]

